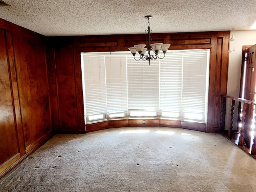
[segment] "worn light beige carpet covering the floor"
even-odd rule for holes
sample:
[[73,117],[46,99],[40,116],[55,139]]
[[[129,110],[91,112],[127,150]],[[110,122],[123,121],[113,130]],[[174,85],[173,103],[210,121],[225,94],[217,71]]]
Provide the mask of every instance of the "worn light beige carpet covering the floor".
[[255,192],[255,173],[256,160],[220,134],[127,127],[55,135],[0,191]]

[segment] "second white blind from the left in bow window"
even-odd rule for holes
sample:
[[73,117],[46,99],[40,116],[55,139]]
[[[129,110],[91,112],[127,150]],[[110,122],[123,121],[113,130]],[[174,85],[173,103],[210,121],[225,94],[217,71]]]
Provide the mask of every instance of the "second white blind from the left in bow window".
[[107,112],[127,112],[126,56],[106,55],[105,66]]

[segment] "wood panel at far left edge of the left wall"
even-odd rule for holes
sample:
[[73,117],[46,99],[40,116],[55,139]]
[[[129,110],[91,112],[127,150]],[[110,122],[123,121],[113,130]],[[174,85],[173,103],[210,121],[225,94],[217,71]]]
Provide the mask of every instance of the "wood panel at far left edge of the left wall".
[[0,30],[0,167],[19,154],[5,42]]

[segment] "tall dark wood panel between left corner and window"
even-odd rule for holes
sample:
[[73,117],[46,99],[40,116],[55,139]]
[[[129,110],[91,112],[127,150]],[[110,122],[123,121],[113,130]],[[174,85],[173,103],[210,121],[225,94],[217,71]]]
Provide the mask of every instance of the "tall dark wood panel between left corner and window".
[[[58,131],[77,131],[78,111],[73,43],[62,43],[55,47],[59,124]],[[83,103],[80,103],[83,105]]]

